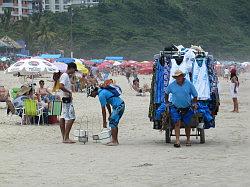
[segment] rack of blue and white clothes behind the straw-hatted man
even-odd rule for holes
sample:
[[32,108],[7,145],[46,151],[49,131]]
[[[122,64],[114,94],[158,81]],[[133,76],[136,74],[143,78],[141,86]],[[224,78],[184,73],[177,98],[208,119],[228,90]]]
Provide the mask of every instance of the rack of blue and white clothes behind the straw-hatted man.
[[[186,74],[198,92],[198,112],[203,116],[204,128],[215,127],[215,117],[219,111],[220,97],[215,60],[201,47],[166,47],[154,56],[153,77],[148,117],[154,122],[154,129],[162,128],[162,118],[166,111],[165,90],[174,81],[176,70]],[[171,100],[171,95],[170,95]]]

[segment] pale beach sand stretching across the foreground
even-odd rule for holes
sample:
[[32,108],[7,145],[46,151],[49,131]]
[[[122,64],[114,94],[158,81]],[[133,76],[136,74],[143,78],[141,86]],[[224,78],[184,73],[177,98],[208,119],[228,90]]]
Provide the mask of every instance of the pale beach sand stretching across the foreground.
[[[0,186],[250,186],[249,75],[240,77],[240,113],[230,112],[229,86],[221,80],[216,128],[205,131],[205,144],[192,137],[192,146],[186,147],[182,137],[180,149],[165,143],[164,132],[152,129],[149,96],[135,96],[125,77],[115,78],[126,103],[117,147],[92,139],[85,145],[65,145],[58,125],[16,125],[20,118],[0,109]],[[151,77],[140,79],[150,83]],[[0,72],[0,83],[11,88],[22,81]],[[98,99],[77,93],[74,105],[72,133],[79,124],[100,132]]]

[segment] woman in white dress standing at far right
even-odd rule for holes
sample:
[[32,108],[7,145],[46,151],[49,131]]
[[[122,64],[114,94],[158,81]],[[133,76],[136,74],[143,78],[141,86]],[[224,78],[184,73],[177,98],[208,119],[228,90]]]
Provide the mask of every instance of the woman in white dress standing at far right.
[[233,99],[234,109],[232,112],[239,112],[239,103],[238,103],[238,93],[239,93],[239,79],[236,75],[236,70],[231,70],[230,75],[230,93]]

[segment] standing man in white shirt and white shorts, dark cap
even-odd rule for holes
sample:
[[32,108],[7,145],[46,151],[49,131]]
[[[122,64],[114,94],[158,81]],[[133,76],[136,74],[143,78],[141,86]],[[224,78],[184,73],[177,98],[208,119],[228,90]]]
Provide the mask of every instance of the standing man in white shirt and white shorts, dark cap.
[[69,139],[71,127],[75,121],[75,110],[72,102],[72,85],[69,76],[77,71],[75,63],[68,64],[68,69],[60,77],[60,89],[62,91],[62,115],[60,118],[60,128],[63,143],[75,143]]

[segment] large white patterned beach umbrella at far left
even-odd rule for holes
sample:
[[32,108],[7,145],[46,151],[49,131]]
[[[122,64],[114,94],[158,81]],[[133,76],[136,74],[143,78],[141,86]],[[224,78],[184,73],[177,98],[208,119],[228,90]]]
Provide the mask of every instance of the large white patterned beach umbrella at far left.
[[21,75],[53,74],[58,72],[58,68],[52,63],[43,59],[25,59],[12,64],[5,73]]

